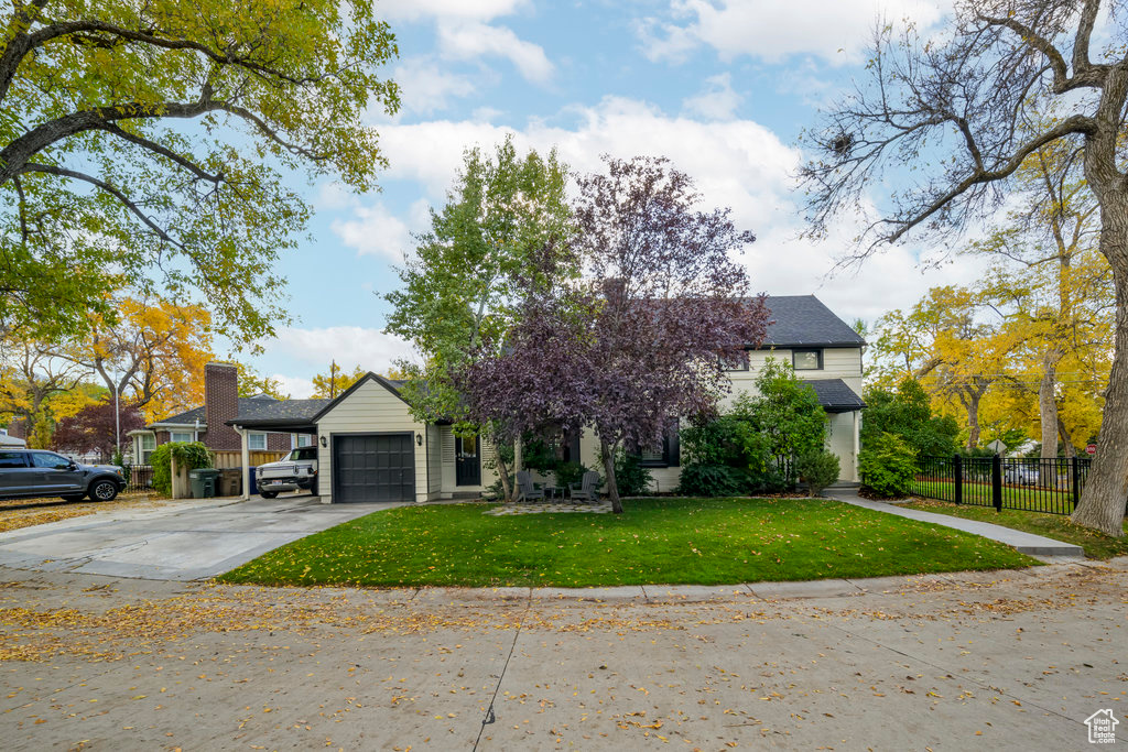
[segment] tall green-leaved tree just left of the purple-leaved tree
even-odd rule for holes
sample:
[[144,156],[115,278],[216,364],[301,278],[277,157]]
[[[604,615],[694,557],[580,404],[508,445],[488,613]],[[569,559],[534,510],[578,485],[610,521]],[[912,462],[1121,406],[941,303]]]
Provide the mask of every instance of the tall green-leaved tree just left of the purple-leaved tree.
[[[453,374],[484,343],[503,346],[518,317],[523,291],[552,284],[535,280],[552,268],[579,274],[567,247],[567,168],[552,151],[518,154],[506,138],[493,156],[466,151],[462,170],[416,254],[398,269],[402,289],[386,295],[393,306],[387,331],[411,340],[423,365],[400,362],[404,398],[420,421],[464,423],[466,400]],[[546,264],[545,253],[558,263]],[[466,426],[492,436],[490,426]],[[493,442],[505,497],[510,497],[504,442]]]

